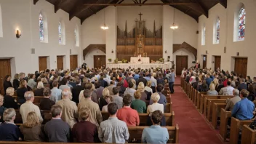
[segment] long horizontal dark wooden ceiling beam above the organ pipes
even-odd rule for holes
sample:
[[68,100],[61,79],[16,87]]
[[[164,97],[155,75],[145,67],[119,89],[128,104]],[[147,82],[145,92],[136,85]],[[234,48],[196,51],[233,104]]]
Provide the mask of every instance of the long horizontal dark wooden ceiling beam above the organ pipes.
[[163,6],[163,5],[191,5],[196,4],[194,2],[182,2],[182,3],[144,3],[144,4],[84,4],[85,6]]

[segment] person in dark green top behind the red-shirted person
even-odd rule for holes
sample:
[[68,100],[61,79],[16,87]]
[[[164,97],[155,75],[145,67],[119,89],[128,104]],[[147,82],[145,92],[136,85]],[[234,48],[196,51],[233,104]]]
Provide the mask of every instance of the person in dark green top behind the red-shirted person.
[[140,100],[141,92],[136,91],[135,92],[135,100],[132,101],[131,108],[135,109],[137,113],[147,113],[147,107],[145,105],[145,102],[143,100]]

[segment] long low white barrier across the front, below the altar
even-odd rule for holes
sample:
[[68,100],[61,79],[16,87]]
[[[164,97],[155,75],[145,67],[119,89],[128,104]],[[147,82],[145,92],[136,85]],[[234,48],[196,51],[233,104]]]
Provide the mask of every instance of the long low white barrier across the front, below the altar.
[[164,68],[164,69],[169,69],[172,68],[172,63],[164,63],[164,64],[159,64],[159,63],[143,63],[143,64],[138,64],[138,63],[107,63],[107,68],[124,68],[127,69],[129,68],[142,68],[142,69],[148,69],[148,68]]

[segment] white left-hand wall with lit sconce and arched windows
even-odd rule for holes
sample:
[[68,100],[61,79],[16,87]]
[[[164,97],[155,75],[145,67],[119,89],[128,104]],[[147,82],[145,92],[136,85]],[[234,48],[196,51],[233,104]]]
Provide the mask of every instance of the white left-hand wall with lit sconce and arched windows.
[[[62,9],[55,14],[54,6],[45,0],[33,4],[33,0],[0,0],[4,36],[0,38],[0,57],[15,57],[12,59],[12,75],[14,73],[33,73],[39,70],[39,56],[49,57],[49,68],[57,67],[57,55],[65,55],[64,68],[69,68],[69,50],[72,55],[79,55],[81,65],[81,48],[75,47],[74,28],[80,20],[74,17],[68,19],[68,13]],[[39,40],[39,12],[43,10],[48,20],[48,43]],[[65,23],[65,45],[58,44],[57,26],[59,20]],[[20,39],[16,39],[16,30],[21,31]],[[79,36],[81,38],[81,35]],[[81,45],[81,44],[80,44]],[[31,54],[31,48],[36,54]]]

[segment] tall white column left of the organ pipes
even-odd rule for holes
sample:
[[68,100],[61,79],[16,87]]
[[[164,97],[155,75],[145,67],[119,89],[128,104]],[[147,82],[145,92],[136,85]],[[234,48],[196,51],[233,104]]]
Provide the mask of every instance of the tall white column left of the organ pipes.
[[[108,25],[108,30],[105,30],[105,54],[106,62],[108,58],[116,59],[116,28],[117,28],[117,9],[109,6],[105,8],[105,24]],[[113,50],[113,53],[112,53]]]

